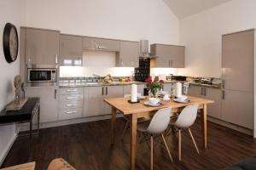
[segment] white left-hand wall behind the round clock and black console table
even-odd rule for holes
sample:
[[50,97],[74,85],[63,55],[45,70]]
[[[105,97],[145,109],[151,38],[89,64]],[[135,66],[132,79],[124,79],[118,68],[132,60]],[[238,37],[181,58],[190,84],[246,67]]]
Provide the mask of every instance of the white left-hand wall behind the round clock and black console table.
[[[0,1],[0,35],[7,22],[14,24],[18,31],[25,24],[25,1],[24,0],[1,0]],[[4,105],[14,99],[15,89],[13,81],[15,75],[20,71],[20,59],[8,64],[4,59],[3,42],[0,41],[0,110]],[[0,165],[3,157],[7,154],[9,145],[15,139],[15,125],[0,126]]]

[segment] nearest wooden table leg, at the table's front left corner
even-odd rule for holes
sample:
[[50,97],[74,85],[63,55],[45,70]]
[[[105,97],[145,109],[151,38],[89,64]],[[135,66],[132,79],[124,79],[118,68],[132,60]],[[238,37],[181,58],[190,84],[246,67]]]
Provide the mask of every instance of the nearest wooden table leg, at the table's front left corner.
[[131,170],[135,169],[137,144],[137,114],[131,114]]

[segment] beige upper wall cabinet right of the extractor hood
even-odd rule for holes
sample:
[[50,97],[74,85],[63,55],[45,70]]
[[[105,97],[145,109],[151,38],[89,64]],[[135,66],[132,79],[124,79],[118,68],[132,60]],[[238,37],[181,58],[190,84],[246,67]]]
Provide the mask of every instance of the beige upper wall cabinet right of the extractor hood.
[[153,59],[152,67],[156,68],[183,68],[185,67],[185,47],[166,44],[152,44],[151,54],[158,58]]

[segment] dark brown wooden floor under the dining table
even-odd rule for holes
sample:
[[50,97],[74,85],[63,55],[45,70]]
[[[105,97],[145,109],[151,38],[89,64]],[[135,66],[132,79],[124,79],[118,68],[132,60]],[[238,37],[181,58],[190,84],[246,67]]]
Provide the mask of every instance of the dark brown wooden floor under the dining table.
[[[117,142],[110,147],[110,120],[86,122],[63,127],[44,128],[34,137],[32,154],[28,150],[29,139],[19,137],[9,152],[3,167],[27,161],[36,161],[38,170],[45,170],[54,158],[62,157],[78,170],[119,170],[130,167],[130,134],[126,133],[124,142],[120,134],[125,121],[117,121]],[[182,159],[177,160],[177,139],[167,137],[174,162],[168,158],[160,144],[155,145],[154,169],[221,169],[236,161],[256,155],[256,140],[215,123],[208,123],[208,149],[202,149],[201,124],[192,127],[200,155],[197,155],[189,133],[182,135]],[[150,151],[146,143],[137,145],[136,169],[149,169]],[[31,160],[30,160],[31,159]]]

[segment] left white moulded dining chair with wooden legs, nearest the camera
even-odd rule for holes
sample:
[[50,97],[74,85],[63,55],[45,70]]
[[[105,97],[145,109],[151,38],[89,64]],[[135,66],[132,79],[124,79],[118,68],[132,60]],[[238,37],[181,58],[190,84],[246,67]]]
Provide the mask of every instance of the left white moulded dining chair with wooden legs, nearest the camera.
[[151,122],[148,124],[141,123],[137,125],[137,130],[141,133],[148,133],[150,135],[150,150],[151,150],[151,159],[150,159],[150,169],[153,170],[153,143],[154,143],[154,134],[160,134],[163,142],[166,146],[166,150],[168,155],[172,161],[172,155],[166,144],[166,139],[163,135],[163,132],[166,131],[170,123],[170,116],[171,116],[172,108],[160,109],[157,111]]

